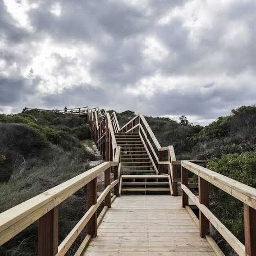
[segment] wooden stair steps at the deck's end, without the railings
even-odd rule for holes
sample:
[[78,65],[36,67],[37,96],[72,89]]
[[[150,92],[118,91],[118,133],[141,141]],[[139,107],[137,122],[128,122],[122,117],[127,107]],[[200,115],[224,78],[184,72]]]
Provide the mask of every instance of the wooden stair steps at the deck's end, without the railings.
[[122,194],[170,194],[167,175],[158,175],[138,132],[115,134],[121,147]]

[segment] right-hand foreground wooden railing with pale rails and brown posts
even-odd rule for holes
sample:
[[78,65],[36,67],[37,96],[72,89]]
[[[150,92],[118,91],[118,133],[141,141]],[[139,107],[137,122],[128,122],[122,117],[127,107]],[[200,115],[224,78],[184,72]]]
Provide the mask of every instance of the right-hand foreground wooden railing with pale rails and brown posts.
[[[256,255],[256,189],[241,182],[213,172],[195,163],[181,161],[182,206],[188,207],[188,198],[199,208],[200,236],[209,233],[209,222],[221,236],[231,245],[238,255]],[[198,176],[199,198],[188,188],[188,172]],[[223,223],[208,209],[208,184],[225,191],[244,203],[244,235],[245,245],[242,244]]]

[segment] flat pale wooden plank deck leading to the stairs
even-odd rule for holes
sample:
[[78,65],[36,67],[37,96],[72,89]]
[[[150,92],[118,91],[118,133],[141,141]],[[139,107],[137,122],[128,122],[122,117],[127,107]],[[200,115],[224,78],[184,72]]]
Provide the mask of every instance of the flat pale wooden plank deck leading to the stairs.
[[181,207],[181,197],[121,196],[108,209],[83,256],[216,255]]

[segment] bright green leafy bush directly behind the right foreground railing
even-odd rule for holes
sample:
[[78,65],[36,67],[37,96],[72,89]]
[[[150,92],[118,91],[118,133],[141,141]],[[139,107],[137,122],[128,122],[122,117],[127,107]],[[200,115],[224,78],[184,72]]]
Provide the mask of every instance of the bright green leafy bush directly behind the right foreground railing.
[[[207,168],[256,188],[256,152],[224,154],[213,158]],[[243,203],[219,188],[212,188],[211,210],[244,243]]]

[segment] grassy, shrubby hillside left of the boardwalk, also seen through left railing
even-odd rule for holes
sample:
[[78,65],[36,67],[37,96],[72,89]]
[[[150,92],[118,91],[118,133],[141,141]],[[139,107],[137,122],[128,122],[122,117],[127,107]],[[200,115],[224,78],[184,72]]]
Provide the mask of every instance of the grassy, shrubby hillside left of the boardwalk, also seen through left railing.
[[[83,140],[93,143],[83,119],[43,112],[0,115],[0,212],[86,172],[99,158],[84,147]],[[85,186],[59,205],[59,244],[87,211],[86,193]],[[86,228],[66,255],[85,234]],[[0,255],[36,255],[37,240],[38,221],[2,245]]]

